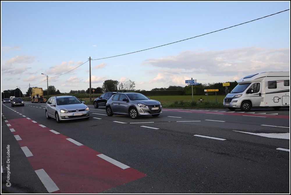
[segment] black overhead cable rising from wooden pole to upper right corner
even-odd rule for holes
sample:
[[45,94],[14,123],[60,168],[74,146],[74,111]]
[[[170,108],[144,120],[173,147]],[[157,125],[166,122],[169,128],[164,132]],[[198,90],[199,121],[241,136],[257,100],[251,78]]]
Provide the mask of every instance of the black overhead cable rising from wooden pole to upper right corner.
[[[288,10],[290,10],[290,9],[288,9]],[[279,13],[282,13],[282,12],[285,12],[285,11],[288,11],[288,10],[284,10],[284,11],[281,11],[281,12],[278,12],[278,13],[274,13],[274,14],[271,14],[271,15],[267,15],[267,16],[264,16],[264,17],[261,17],[261,18],[258,18],[258,19],[253,19],[253,20],[251,20],[249,22],[253,22],[255,20],[259,20],[259,19],[262,19],[262,18],[265,18],[265,17],[269,17],[269,16],[272,16],[272,15],[276,15],[276,14],[279,14]],[[164,44],[164,45],[160,45],[160,46],[157,46],[157,47],[162,47],[162,46],[170,45],[170,44],[173,44],[173,43],[178,43],[178,42],[181,42],[181,41],[185,41],[185,40],[193,39],[193,38],[196,38],[196,37],[208,35],[208,34],[211,34],[211,33],[215,33],[215,32],[218,32],[218,31],[225,30],[225,29],[230,29],[230,28],[233,28],[235,26],[239,26],[239,25],[246,24],[246,23],[249,23],[249,22],[244,22],[244,23],[237,24],[237,25],[234,25],[234,26],[230,26],[230,27],[227,27],[227,28],[224,28],[224,29],[220,29],[220,30],[217,30],[217,31],[212,31],[210,33],[205,33],[205,34],[202,34],[202,35],[198,35],[198,36],[195,36],[195,37],[183,39],[183,40],[180,40],[180,41],[175,41],[175,42],[168,43],[168,44]],[[130,52],[130,53],[127,53],[127,54],[133,54],[133,53],[142,52],[142,51],[149,50],[149,49],[155,49],[157,47],[151,47],[151,48],[148,48],[148,49],[143,49],[143,50],[139,50],[139,51],[136,51],[136,52]],[[111,57],[106,57],[106,58],[99,58],[99,59],[94,59],[94,60],[102,60],[102,59],[107,59],[107,58],[114,58],[114,57],[118,57],[118,56],[124,56],[124,55],[127,55],[127,54],[121,54],[121,55],[117,55],[117,56],[111,56]]]

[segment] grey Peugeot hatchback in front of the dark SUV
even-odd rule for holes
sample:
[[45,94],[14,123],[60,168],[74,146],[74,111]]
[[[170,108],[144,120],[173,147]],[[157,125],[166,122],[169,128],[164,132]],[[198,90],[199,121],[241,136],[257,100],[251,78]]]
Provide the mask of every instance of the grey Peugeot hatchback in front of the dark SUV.
[[141,93],[118,93],[107,100],[106,114],[129,114],[133,119],[143,115],[156,117],[162,114],[162,105]]

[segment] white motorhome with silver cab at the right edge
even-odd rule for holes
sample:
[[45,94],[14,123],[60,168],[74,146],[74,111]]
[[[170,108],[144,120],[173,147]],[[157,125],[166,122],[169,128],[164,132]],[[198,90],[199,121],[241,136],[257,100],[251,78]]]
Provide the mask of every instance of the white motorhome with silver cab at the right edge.
[[262,72],[248,75],[237,81],[238,85],[226,95],[223,105],[230,110],[252,107],[290,106],[290,72]]

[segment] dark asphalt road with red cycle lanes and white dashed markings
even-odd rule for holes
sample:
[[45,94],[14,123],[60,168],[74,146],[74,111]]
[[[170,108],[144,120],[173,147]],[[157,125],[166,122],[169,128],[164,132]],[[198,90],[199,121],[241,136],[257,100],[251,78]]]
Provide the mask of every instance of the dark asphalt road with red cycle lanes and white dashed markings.
[[89,120],[56,123],[44,108],[2,104],[2,192],[290,193],[289,109],[163,109],[133,120],[89,106]]

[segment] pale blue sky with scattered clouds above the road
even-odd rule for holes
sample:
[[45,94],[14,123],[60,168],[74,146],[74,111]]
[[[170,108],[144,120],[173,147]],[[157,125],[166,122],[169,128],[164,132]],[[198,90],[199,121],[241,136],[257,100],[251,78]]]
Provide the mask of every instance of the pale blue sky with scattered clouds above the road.
[[289,1],[1,1],[1,92],[46,89],[45,75],[60,92],[87,90],[89,57],[92,88],[290,71],[290,10],[210,33],[287,9]]

